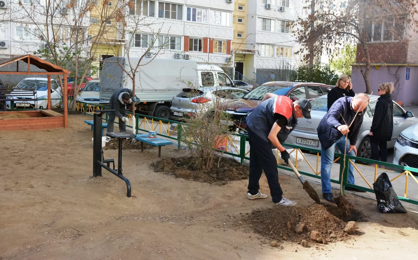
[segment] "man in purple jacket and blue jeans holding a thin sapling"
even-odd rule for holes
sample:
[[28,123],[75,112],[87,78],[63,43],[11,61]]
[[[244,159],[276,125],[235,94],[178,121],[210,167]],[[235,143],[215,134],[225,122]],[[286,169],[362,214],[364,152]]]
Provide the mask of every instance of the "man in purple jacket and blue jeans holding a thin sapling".
[[[341,97],[337,99],[316,129],[318,131],[319,141],[321,142],[322,196],[327,201],[334,202],[334,197],[331,193],[331,166],[334,161],[335,145],[342,153],[346,149],[348,155],[357,155],[356,143],[359,138],[360,128],[362,127],[364,112],[367,105],[369,105],[368,102],[365,102],[368,98],[366,94],[359,93],[355,97]],[[362,105],[363,103],[364,105]],[[353,121],[357,111],[359,111],[359,114],[349,129],[348,125]],[[345,135],[347,133],[347,147],[344,147]],[[350,163],[348,169],[349,184],[354,184],[353,170],[354,167]],[[359,189],[349,187],[346,189],[360,191]]]

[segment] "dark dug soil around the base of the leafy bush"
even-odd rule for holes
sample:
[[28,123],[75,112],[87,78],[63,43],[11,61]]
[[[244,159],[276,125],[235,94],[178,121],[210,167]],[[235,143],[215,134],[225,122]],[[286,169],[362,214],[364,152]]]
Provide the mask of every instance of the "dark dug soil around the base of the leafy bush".
[[236,181],[247,179],[250,174],[250,166],[241,165],[231,158],[221,158],[218,168],[218,159],[215,166],[208,173],[199,171],[192,163],[189,156],[163,159],[151,163],[154,171],[173,174],[177,178],[191,179],[203,182]]

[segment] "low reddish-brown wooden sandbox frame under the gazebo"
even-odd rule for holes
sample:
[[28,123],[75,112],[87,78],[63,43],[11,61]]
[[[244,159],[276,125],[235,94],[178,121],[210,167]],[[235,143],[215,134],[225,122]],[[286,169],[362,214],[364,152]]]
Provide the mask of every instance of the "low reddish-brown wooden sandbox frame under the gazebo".
[[64,127],[64,115],[52,110],[0,111],[0,130],[47,130]]

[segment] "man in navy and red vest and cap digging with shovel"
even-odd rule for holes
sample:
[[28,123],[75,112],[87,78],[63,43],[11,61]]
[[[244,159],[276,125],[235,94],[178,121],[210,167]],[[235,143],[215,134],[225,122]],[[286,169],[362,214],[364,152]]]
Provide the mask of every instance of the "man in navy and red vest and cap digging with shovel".
[[[271,149],[277,148],[282,159],[288,163],[290,155],[281,143],[293,130],[297,118],[311,118],[311,109],[312,105],[308,99],[301,98],[292,102],[288,97],[267,93],[263,102],[247,116],[247,131],[251,147],[248,199],[268,197],[259,191],[259,181],[264,170],[274,205],[293,206],[296,204],[296,201],[282,197],[283,191],[279,184],[276,158]],[[283,131],[280,131],[282,129]]]

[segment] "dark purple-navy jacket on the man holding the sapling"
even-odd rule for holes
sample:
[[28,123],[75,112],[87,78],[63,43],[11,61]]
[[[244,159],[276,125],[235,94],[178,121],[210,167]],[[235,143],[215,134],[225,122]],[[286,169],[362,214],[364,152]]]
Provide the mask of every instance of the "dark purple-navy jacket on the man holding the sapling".
[[[318,138],[321,142],[321,146],[324,150],[331,147],[336,141],[338,141],[343,134],[337,129],[340,125],[350,125],[353,121],[356,112],[351,107],[353,97],[342,97],[336,100],[331,108],[326,112],[319,126],[316,129],[318,131]],[[367,109],[367,108],[366,108]],[[364,109],[359,112],[353,125],[350,127],[348,132],[348,139],[351,145],[356,145],[357,139],[359,138],[360,128],[363,123],[363,115],[366,112]],[[342,117],[341,117],[342,115]],[[342,119],[344,118],[344,120]]]

